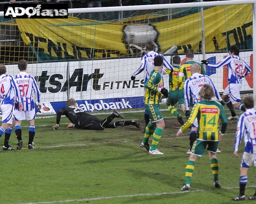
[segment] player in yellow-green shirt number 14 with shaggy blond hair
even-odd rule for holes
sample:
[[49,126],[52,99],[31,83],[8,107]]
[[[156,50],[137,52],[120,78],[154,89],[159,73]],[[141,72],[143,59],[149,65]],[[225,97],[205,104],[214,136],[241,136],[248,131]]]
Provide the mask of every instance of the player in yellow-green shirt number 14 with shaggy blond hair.
[[[210,84],[204,84],[199,91],[201,101],[196,103],[192,109],[188,121],[177,132],[176,137],[185,131],[194,120],[198,120],[197,139],[193,144],[191,154],[186,166],[186,183],[181,188],[183,191],[190,190],[190,179],[194,172],[196,158],[203,156],[208,145],[209,157],[211,159],[211,168],[213,181],[216,188],[220,188],[219,182],[219,162],[216,157],[219,140],[226,132],[228,120],[224,109],[220,103],[211,100],[214,95],[213,88]],[[219,122],[222,121],[221,132],[219,132]]]

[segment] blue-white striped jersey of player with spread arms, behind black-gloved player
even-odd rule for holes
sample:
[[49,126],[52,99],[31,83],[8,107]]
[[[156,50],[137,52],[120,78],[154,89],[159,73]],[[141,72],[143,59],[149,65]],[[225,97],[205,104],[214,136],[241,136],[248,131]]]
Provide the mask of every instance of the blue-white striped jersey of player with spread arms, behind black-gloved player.
[[[140,68],[137,69],[133,74],[132,76],[136,76],[138,74],[140,74],[145,68],[146,68],[146,76],[145,76],[145,81],[144,81],[144,84],[146,83],[146,81],[148,80],[148,77],[151,73],[151,71],[153,69],[155,69],[155,66],[154,66],[154,58],[156,56],[162,56],[163,59],[164,59],[164,67],[166,67],[167,69],[170,69],[172,71],[174,71],[174,68],[172,67],[172,65],[165,59],[164,55],[162,54],[159,54],[159,53],[156,53],[154,51],[150,51],[148,52],[146,55],[142,56],[141,57],[141,61],[140,61]],[[162,74],[162,77],[163,77],[163,73]]]

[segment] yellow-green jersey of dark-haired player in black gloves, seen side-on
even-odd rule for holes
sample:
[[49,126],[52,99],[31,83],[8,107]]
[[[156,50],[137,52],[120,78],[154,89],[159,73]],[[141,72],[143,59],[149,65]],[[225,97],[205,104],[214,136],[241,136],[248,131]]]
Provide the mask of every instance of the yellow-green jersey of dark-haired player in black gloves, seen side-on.
[[164,82],[161,73],[157,69],[153,69],[145,84],[144,102],[146,104],[159,104],[162,93],[158,92],[158,88],[163,88]]

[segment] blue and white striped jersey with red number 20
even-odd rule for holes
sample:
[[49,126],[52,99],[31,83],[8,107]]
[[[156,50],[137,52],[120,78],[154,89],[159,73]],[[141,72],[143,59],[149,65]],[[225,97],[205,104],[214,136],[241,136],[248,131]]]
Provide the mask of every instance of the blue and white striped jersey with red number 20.
[[[208,63],[208,66],[216,68],[228,66],[229,84],[242,84],[242,77],[252,72],[252,68],[237,55],[226,56],[221,62],[217,64]],[[244,69],[246,69],[245,72]]]

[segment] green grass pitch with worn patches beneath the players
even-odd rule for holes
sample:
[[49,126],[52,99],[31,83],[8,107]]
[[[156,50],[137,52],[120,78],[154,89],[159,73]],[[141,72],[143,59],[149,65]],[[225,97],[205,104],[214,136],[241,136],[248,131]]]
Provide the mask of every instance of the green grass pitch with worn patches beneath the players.
[[[66,128],[69,121],[61,118],[60,128],[52,130],[56,118],[36,119],[33,150],[27,147],[28,122],[23,121],[22,150],[0,151],[0,203],[233,203],[231,198],[239,194],[241,162],[233,155],[237,121],[228,121],[228,130],[219,144],[221,189],[214,189],[210,159],[205,152],[196,161],[192,191],[184,193],[180,188],[185,183],[189,130],[176,138],[180,124],[171,113],[162,113],[165,129],[158,149],[164,155],[155,156],[139,147],[144,135],[144,113],[124,113],[127,120],[139,120],[140,129],[127,126],[80,130]],[[16,148],[14,131],[9,143]],[[240,156],[243,151],[241,143]],[[246,196],[255,192],[255,179],[255,168],[251,167]]]

